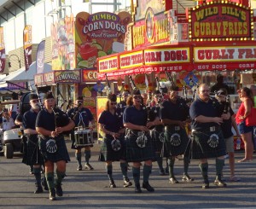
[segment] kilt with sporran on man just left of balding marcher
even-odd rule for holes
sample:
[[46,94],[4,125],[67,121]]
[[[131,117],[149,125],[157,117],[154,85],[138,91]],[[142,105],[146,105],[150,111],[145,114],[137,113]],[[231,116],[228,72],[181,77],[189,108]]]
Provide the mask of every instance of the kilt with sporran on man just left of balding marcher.
[[163,157],[169,158],[179,154],[184,154],[188,146],[189,137],[186,130],[182,128],[175,130],[175,127],[179,126],[172,125],[166,127],[161,154]]

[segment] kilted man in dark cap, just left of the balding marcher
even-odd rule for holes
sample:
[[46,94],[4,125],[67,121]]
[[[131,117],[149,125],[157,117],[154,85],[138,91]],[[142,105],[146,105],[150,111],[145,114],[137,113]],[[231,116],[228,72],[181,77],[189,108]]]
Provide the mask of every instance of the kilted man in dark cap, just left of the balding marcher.
[[[178,87],[172,86],[169,100],[162,103],[160,118],[165,125],[165,138],[163,143],[163,156],[168,158],[169,183],[178,183],[174,177],[174,162],[177,155],[184,154],[189,137],[185,130],[186,123],[189,122],[189,107],[186,102],[178,97]],[[189,158],[183,157],[183,178],[184,182],[192,182],[189,177]]]

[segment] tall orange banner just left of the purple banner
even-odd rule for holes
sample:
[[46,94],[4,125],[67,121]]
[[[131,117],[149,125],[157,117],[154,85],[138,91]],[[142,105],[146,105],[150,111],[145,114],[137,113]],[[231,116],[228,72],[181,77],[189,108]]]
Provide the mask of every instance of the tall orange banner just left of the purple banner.
[[32,26],[27,25],[23,30],[24,63],[26,71],[32,64]]

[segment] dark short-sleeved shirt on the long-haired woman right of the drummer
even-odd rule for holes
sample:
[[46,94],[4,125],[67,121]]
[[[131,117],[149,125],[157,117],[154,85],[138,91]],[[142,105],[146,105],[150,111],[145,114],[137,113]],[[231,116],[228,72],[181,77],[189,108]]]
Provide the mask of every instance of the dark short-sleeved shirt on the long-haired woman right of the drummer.
[[98,122],[111,132],[118,132],[122,128],[119,116],[116,113],[112,114],[106,110],[102,112]]

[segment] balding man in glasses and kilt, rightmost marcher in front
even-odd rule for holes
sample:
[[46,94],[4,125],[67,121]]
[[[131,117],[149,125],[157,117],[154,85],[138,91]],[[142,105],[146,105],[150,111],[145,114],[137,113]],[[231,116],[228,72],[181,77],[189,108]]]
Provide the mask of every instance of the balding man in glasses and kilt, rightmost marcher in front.
[[210,88],[207,84],[199,86],[198,96],[189,109],[193,136],[185,155],[191,159],[200,160],[199,167],[203,177],[202,189],[210,188],[207,159],[215,158],[216,178],[214,184],[223,188],[227,186],[222,180],[226,148],[221,124],[224,119],[230,118],[230,113],[223,113],[219,102],[210,97]]

